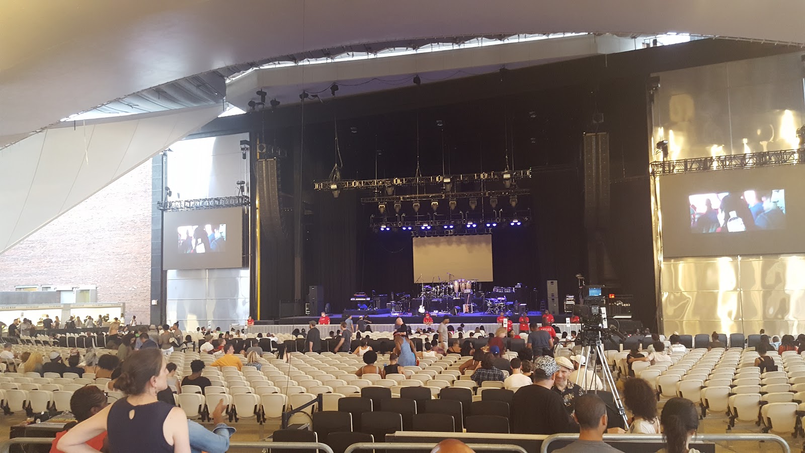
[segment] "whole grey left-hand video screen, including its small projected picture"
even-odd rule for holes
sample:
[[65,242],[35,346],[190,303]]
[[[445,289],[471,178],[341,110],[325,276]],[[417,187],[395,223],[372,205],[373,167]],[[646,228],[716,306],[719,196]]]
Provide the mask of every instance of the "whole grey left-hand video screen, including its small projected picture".
[[163,227],[166,269],[243,266],[242,208],[170,211]]

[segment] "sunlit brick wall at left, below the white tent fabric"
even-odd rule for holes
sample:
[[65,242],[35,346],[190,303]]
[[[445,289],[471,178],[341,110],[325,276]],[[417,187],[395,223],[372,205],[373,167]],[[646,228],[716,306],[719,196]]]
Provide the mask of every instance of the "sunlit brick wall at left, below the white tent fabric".
[[0,290],[97,285],[97,301],[151,317],[151,160],[0,255]]

